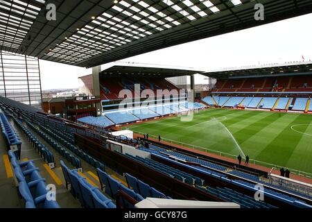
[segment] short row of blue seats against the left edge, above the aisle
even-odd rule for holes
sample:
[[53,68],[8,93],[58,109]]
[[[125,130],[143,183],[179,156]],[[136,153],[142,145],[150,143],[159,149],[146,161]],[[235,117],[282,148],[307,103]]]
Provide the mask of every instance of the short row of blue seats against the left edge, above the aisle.
[[19,139],[19,136],[17,135],[15,129],[12,128],[11,124],[6,118],[6,115],[3,114],[1,110],[0,110],[0,126],[2,135],[6,139],[8,149],[11,148],[17,155],[17,158],[19,159],[21,155],[21,140]]

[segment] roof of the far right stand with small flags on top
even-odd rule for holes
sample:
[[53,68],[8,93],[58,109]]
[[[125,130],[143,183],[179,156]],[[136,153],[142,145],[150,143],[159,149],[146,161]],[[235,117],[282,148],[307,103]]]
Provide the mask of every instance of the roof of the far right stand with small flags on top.
[[288,62],[286,64],[272,64],[263,67],[247,67],[239,69],[228,69],[208,71],[202,75],[211,78],[238,78],[238,77],[261,77],[261,76],[288,76],[312,74],[312,62]]

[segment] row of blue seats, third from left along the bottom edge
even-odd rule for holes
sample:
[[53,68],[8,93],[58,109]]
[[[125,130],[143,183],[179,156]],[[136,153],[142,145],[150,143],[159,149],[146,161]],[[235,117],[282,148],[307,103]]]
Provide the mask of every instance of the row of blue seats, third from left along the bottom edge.
[[[112,178],[109,174],[107,174],[105,171],[102,171],[101,169],[96,169],[98,173],[98,178],[101,183],[101,189],[105,191],[105,194],[112,197],[114,200],[117,198],[117,191],[122,190],[126,194],[128,194],[133,199],[137,200],[137,202],[144,200],[144,197],[142,197],[140,192],[137,192],[135,189],[131,189],[130,187],[125,187],[121,182],[118,180]],[[123,200],[123,207],[125,208],[134,208],[135,206],[130,204],[128,201]]]

